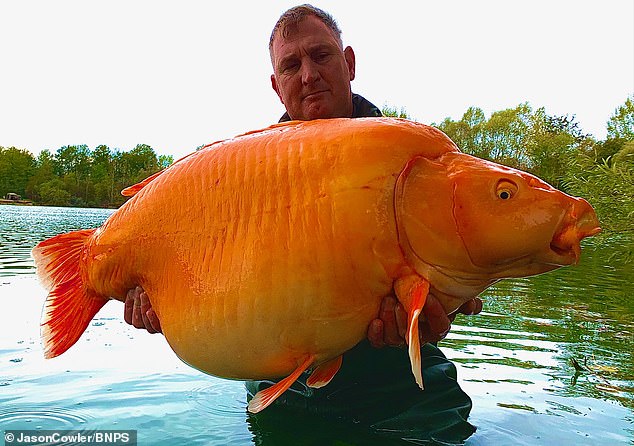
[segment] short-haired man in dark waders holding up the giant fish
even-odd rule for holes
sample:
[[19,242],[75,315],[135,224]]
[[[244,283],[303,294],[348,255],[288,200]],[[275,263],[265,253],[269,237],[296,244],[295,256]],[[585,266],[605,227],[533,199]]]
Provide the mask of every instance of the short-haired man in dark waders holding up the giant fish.
[[[377,107],[352,93],[354,51],[343,47],[341,30],[324,11],[310,5],[289,9],[271,33],[269,52],[271,85],[286,108],[280,121],[381,116]],[[459,311],[475,314],[481,309],[482,302],[474,299]],[[444,338],[452,318],[434,296],[429,296],[423,312],[421,344]],[[125,320],[149,332],[160,332],[149,299],[138,287],[128,293]],[[422,439],[438,429],[434,415],[441,410],[445,419],[451,420],[448,423],[453,432],[462,429],[461,435],[470,435],[473,428],[466,423],[470,400],[455,382],[455,368],[437,348],[427,344],[422,349],[425,382],[436,389],[435,393],[423,392],[415,384],[406,349],[378,349],[403,346],[406,324],[405,310],[395,297],[386,297],[380,314],[368,327],[367,342],[346,353],[341,370],[328,386],[311,389],[304,376],[278,398],[276,405],[354,420],[377,431],[397,432],[396,436],[401,435],[399,431],[407,432]],[[252,396],[271,384],[249,382],[247,389]],[[444,403],[437,401],[439,396]],[[447,416],[448,412],[453,417]]]

